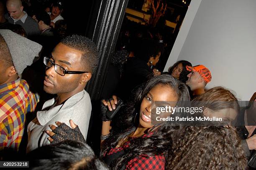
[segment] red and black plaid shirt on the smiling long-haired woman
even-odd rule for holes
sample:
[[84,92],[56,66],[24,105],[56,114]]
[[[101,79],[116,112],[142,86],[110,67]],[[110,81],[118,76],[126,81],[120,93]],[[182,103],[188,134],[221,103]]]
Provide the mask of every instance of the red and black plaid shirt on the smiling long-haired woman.
[[[148,138],[152,135],[153,132],[145,134],[142,137]],[[124,143],[124,145],[119,148],[111,148],[107,155],[112,155],[124,150],[125,148],[128,148],[131,140]],[[151,157],[147,155],[139,155],[138,157],[128,161],[127,165],[125,165],[125,170],[164,170],[164,164],[164,155],[154,155]]]

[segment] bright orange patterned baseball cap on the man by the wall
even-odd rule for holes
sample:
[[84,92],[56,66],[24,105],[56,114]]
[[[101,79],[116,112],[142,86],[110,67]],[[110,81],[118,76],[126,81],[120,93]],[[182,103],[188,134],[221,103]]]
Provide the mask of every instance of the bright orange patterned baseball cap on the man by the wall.
[[190,67],[187,65],[186,69],[190,72],[191,71],[198,72],[204,78],[205,83],[208,83],[212,80],[212,75],[210,70],[204,65],[196,65],[194,67]]

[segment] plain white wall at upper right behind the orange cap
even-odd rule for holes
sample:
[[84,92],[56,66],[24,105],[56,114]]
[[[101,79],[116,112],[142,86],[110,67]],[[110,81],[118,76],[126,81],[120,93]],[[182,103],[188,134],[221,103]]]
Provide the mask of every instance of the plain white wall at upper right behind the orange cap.
[[177,60],[205,65],[207,88],[224,86],[249,100],[256,92],[256,0],[192,0],[165,71]]

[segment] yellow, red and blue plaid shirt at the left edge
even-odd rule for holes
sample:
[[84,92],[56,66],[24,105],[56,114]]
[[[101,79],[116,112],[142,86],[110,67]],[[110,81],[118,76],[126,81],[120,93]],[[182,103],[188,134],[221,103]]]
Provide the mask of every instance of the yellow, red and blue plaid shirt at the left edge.
[[26,80],[0,85],[0,150],[18,150],[26,113],[33,112],[38,102],[38,94],[29,90]]

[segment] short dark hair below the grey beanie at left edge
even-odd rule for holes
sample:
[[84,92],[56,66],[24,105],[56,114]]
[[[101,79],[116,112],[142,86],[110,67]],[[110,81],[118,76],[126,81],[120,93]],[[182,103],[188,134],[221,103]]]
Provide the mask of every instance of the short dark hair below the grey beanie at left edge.
[[0,35],[0,60],[3,60],[7,66],[13,65],[10,50],[5,42],[5,39]]

